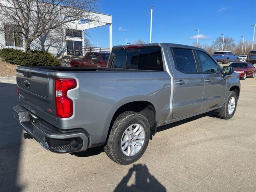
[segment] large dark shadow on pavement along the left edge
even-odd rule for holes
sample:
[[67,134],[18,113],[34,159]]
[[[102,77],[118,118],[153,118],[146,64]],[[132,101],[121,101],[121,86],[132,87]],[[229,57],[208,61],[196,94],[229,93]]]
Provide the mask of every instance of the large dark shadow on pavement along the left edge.
[[22,128],[12,107],[19,103],[16,84],[0,83],[0,191],[22,190],[18,185]]

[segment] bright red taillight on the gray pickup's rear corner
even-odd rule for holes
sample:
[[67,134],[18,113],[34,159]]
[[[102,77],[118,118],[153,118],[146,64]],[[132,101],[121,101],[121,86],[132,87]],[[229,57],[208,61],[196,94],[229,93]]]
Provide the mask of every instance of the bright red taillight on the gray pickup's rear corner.
[[60,118],[68,118],[73,115],[73,102],[68,98],[67,92],[76,88],[75,79],[55,80],[56,115]]

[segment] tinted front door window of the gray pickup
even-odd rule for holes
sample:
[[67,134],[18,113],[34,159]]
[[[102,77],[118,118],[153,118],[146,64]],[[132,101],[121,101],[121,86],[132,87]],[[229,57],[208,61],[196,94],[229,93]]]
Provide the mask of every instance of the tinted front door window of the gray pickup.
[[218,73],[217,64],[204,52],[197,51],[204,73]]

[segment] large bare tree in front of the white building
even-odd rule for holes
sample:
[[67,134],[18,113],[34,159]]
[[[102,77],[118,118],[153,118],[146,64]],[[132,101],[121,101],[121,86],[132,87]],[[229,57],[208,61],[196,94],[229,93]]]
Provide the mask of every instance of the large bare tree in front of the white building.
[[22,34],[26,52],[31,42],[50,30],[65,25],[79,25],[80,20],[97,22],[94,13],[98,0],[0,0],[0,26],[15,26]]

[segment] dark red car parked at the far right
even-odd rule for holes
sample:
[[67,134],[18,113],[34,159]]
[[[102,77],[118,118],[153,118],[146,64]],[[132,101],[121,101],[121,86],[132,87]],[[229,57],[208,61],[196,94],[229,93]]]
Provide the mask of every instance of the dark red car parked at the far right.
[[237,72],[242,80],[245,80],[246,77],[255,77],[256,69],[251,63],[236,62],[230,64],[229,66],[234,68],[234,72]]

